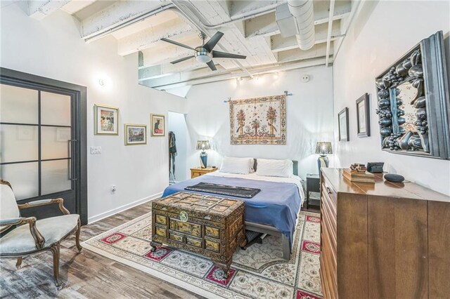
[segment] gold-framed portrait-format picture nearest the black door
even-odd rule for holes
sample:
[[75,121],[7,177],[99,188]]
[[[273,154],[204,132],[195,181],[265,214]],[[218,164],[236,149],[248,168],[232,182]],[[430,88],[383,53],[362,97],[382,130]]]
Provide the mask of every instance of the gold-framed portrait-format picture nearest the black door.
[[94,134],[119,135],[119,108],[94,104]]

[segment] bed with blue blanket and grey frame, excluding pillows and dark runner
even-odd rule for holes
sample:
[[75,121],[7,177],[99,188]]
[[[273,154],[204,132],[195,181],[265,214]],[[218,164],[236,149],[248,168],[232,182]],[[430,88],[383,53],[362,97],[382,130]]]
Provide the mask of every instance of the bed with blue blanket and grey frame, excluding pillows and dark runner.
[[[290,178],[216,171],[170,185],[164,190],[162,197],[185,191],[184,188],[199,182],[260,189],[261,192],[251,199],[232,198],[245,201],[245,229],[281,237],[283,258],[290,260],[297,214],[304,200],[302,180],[298,177],[297,161],[293,161],[293,176]],[[208,194],[206,192],[190,192]]]

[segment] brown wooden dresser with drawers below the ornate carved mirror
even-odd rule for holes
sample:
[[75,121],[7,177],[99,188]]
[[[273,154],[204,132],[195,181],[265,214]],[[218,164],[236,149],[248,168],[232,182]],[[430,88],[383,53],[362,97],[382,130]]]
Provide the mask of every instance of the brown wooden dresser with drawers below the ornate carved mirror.
[[321,170],[324,298],[450,298],[450,197]]

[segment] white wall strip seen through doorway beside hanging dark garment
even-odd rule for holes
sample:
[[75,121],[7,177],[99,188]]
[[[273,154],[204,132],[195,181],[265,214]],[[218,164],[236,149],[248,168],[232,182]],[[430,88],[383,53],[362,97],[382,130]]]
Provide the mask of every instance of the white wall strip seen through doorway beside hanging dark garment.
[[175,157],[175,182],[181,182],[191,178],[187,176],[187,137],[188,127],[186,126],[186,116],[182,113],[169,112],[167,117],[167,132],[175,133],[176,157]]

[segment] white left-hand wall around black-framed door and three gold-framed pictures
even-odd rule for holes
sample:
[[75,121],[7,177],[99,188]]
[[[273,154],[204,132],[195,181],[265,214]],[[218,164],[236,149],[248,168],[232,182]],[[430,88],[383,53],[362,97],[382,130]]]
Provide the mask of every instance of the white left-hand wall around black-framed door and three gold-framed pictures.
[[[37,21],[18,4],[1,6],[1,67],[87,86],[88,149],[102,147],[102,154],[88,154],[89,220],[162,192],[169,181],[167,134],[150,138],[148,131],[147,145],[124,146],[123,125],[150,126],[150,113],[183,112],[186,100],[140,86],[137,53],[120,57],[113,37],[85,44],[70,15],[58,11]],[[108,79],[106,88],[99,77]],[[94,135],[94,103],[120,108],[118,136]]]

